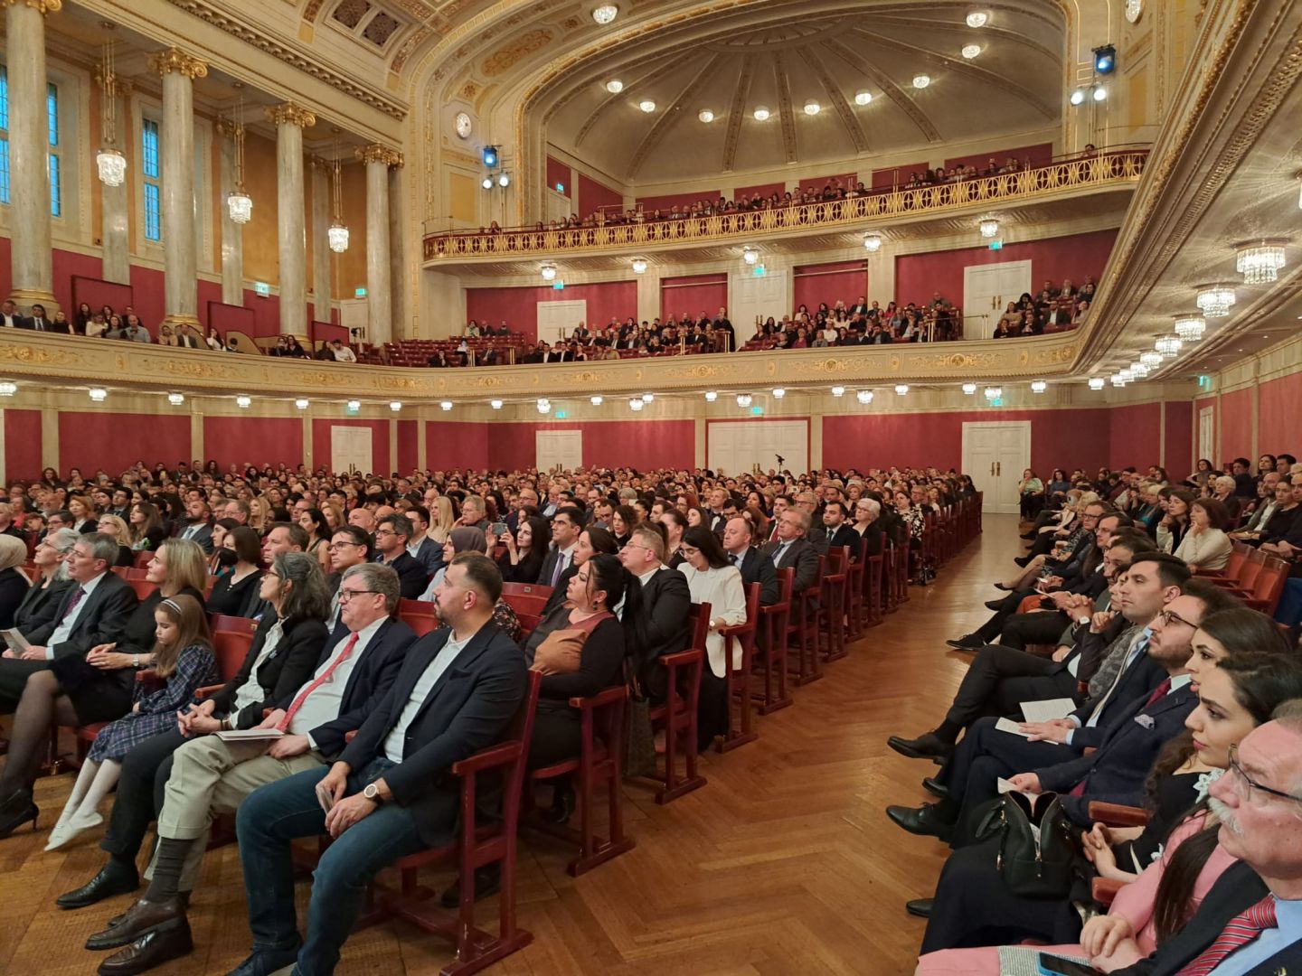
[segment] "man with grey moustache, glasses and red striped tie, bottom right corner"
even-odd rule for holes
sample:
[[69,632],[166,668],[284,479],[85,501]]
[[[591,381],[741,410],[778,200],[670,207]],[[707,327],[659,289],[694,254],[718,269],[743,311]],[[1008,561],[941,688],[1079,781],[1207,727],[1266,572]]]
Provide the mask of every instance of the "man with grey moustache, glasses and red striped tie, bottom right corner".
[[1133,976],[1302,972],[1302,701],[1243,737],[1229,763],[1210,806],[1240,863],[1147,959],[1122,940],[1095,966]]

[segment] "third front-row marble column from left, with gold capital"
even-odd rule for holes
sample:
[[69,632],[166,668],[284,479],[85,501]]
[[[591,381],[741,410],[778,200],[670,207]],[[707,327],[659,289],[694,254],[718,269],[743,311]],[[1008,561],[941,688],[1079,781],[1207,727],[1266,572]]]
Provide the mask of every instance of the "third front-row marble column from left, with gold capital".
[[285,102],[267,108],[276,124],[276,215],[280,220],[280,331],[307,334],[307,215],[303,207],[303,129],[316,116]]

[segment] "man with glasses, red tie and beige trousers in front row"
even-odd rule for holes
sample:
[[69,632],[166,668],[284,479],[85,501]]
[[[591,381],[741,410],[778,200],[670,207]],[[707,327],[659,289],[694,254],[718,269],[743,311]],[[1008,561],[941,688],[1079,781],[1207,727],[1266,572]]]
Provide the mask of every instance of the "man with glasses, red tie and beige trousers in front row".
[[318,777],[345,751],[345,737],[387,700],[415,640],[397,619],[398,578],[378,563],[353,566],[341,583],[340,626],[312,675],[258,727],[284,735],[266,742],[224,742],[197,735],[163,763],[167,782],[158,817],[159,845],[148,891],[122,919],[92,940],[126,945],[100,967],[143,972],[191,947],[181,891],[191,891],[207,850],[212,816],[233,813],[258,787],[307,770]]

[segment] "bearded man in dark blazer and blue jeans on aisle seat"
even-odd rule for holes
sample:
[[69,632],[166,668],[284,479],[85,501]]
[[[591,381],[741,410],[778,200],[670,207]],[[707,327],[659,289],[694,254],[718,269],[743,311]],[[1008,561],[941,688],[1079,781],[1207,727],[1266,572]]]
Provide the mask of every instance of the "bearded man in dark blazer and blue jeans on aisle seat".
[[[247,972],[273,972],[296,960],[302,972],[332,972],[361,914],[366,882],[396,859],[454,837],[461,794],[449,769],[500,740],[527,688],[523,653],[492,623],[500,596],[501,573],[492,560],[457,556],[435,591],[439,616],[450,626],[408,649],[389,694],[339,761],[264,786],[240,808],[256,946]],[[312,877],[302,941],[290,842],[322,833],[335,843]]]

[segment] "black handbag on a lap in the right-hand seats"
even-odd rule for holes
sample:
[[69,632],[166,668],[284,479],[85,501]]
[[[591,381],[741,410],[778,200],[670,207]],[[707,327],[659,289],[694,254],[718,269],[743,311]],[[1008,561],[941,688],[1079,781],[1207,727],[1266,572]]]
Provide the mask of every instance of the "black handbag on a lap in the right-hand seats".
[[976,838],[999,835],[995,869],[1022,898],[1065,898],[1072,890],[1077,833],[1055,794],[1004,794],[976,826]]

